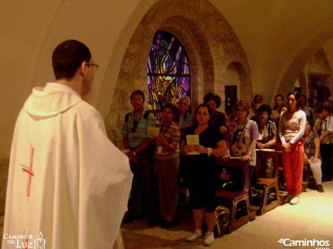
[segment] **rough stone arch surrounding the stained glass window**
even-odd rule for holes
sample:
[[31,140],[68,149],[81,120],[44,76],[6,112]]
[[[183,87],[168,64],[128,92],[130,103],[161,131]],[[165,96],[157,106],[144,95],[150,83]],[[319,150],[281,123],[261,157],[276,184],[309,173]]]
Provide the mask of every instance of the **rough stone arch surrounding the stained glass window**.
[[[190,60],[192,103],[214,91],[224,102],[223,75],[230,62],[242,65],[241,93],[251,99],[249,63],[227,19],[209,1],[161,0],[152,5],[135,30],[124,54],[113,103],[105,123],[108,137],[122,147],[122,123],[132,110],[129,97],[135,89],[147,93],[147,63],[154,34],[163,29],[174,34]],[[239,65],[238,65],[239,66]]]

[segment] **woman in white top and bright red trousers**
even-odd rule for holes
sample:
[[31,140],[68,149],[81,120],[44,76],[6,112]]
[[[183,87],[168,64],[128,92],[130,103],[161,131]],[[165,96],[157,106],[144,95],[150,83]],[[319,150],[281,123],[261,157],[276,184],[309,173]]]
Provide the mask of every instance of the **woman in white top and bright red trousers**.
[[292,205],[299,203],[303,177],[304,147],[301,138],[306,128],[306,113],[298,108],[299,97],[297,91],[288,93],[288,110],[282,112],[278,129],[282,143],[284,180],[288,191],[286,202]]

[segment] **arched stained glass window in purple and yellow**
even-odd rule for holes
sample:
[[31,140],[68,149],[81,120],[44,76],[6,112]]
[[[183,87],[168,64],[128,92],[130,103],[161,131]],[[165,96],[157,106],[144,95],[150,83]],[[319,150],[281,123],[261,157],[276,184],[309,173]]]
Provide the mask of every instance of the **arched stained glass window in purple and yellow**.
[[158,31],[148,60],[148,108],[159,112],[167,103],[176,105],[181,95],[190,97],[190,64],[181,42],[169,32]]

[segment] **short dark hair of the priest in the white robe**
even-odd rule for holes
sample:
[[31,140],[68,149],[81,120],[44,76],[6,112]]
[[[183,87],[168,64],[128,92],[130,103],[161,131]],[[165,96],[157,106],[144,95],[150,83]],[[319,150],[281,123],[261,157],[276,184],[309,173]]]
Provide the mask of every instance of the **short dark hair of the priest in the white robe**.
[[71,80],[82,62],[89,63],[89,48],[78,40],[65,40],[60,43],[52,54],[52,67],[56,80]]

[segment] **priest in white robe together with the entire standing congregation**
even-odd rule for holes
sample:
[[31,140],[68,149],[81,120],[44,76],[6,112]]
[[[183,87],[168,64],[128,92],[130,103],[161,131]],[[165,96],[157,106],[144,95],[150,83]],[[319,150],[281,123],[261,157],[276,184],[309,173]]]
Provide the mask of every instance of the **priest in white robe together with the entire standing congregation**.
[[[321,89],[314,112],[296,91],[287,95],[286,107],[283,96],[277,95],[273,111],[260,105],[262,96],[256,95],[253,109],[248,102],[238,101],[229,121],[216,110],[221,104],[218,95],[205,95],[194,115],[188,111],[190,98],[183,96],[178,108],[163,106],[158,125],[143,107],[143,92],[134,91],[133,111],[126,115],[122,129],[126,157],[106,136],[100,113],[84,102],[98,69],[89,48],[78,40],[65,40],[54,49],[52,66],[55,81],[34,88],[21,109],[10,154],[3,234],[23,233],[25,244],[43,233],[52,248],[123,248],[121,222],[148,214],[150,226],[173,226],[183,164],[195,224],[187,241],[203,237],[206,224],[203,243],[209,246],[214,243],[216,222],[215,157],[240,156],[249,161],[251,182],[257,165],[255,148],[273,147],[277,139],[282,144],[290,204],[299,202],[303,161],[308,161],[318,191],[323,191],[321,180],[332,180],[328,88]],[[149,137],[149,128],[157,126],[158,133]],[[262,174],[271,174],[270,167],[264,167]],[[9,247],[4,237],[2,248]]]

